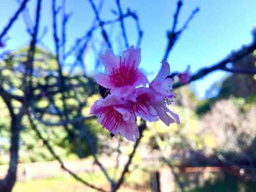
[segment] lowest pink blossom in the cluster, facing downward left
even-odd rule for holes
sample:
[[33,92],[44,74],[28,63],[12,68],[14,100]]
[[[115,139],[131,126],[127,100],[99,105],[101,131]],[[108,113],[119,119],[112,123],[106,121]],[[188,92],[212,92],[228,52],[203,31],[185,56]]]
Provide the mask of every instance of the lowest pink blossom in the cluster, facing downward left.
[[120,133],[131,141],[139,138],[139,129],[133,114],[125,107],[123,100],[115,95],[96,101],[90,114],[96,115],[98,122],[114,135]]

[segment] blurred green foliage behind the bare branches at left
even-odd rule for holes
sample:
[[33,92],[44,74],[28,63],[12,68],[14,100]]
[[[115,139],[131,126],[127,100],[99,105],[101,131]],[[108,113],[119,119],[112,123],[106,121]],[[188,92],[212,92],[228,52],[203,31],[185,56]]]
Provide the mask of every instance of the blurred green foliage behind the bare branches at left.
[[[12,94],[23,96],[25,62],[28,47],[7,53],[0,61],[0,83]],[[57,73],[58,65],[55,56],[39,47],[36,48],[34,72],[32,83],[34,96],[31,98],[33,115],[42,122],[57,123],[63,111],[61,92],[66,97],[66,107],[69,120],[88,116],[89,106],[94,100],[87,99],[97,93],[96,83],[80,72],[69,76],[64,74],[64,87],[60,86],[60,79]],[[62,90],[59,90],[59,89]],[[95,97],[93,97],[95,99]],[[16,111],[21,104],[18,101],[13,103]],[[8,162],[9,151],[9,125],[10,116],[8,110],[0,99],[0,163]],[[64,130],[63,126],[44,126],[44,123],[37,123],[40,132],[50,140],[54,150],[63,158],[81,158],[90,155],[90,150],[86,139],[81,135],[78,127],[94,127],[90,129],[91,137],[97,142],[95,132],[99,131],[99,125],[95,120],[77,123],[77,127],[70,127],[72,132]],[[36,162],[53,160],[52,155],[43,146],[43,142],[38,139],[35,132],[31,129],[28,119],[25,116],[22,121],[22,132],[20,135],[20,162]],[[80,135],[75,137],[73,134]]]

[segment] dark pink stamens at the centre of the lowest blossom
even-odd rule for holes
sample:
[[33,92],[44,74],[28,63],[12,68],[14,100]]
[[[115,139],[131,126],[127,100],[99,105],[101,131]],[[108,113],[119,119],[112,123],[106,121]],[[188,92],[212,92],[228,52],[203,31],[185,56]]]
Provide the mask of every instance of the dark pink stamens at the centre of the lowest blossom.
[[102,118],[101,124],[103,127],[108,129],[109,131],[113,129],[117,129],[117,127],[122,123],[123,118],[122,114],[117,112],[113,106],[106,106],[102,114],[100,115]]

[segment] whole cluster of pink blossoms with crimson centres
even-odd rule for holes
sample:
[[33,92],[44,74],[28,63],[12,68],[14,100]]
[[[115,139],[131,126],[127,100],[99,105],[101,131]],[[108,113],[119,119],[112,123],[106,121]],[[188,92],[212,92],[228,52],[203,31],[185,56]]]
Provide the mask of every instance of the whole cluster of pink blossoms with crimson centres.
[[93,104],[90,114],[96,115],[105,129],[134,141],[140,136],[137,117],[150,122],[161,119],[166,125],[180,123],[179,116],[166,106],[175,97],[172,79],[166,78],[170,73],[168,62],[162,60],[160,72],[150,83],[138,69],[140,49],[132,46],[119,58],[107,50],[99,58],[105,71],[95,79],[109,94]]

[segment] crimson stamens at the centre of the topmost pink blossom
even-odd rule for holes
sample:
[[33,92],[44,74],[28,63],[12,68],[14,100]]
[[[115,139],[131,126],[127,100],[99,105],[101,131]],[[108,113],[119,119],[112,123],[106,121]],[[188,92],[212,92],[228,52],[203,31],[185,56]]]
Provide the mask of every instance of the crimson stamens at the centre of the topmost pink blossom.
[[110,74],[111,81],[115,84],[116,87],[132,85],[135,80],[135,73],[137,68],[135,68],[135,61],[133,65],[126,65],[125,58],[123,61],[119,61],[119,68],[113,68]]

